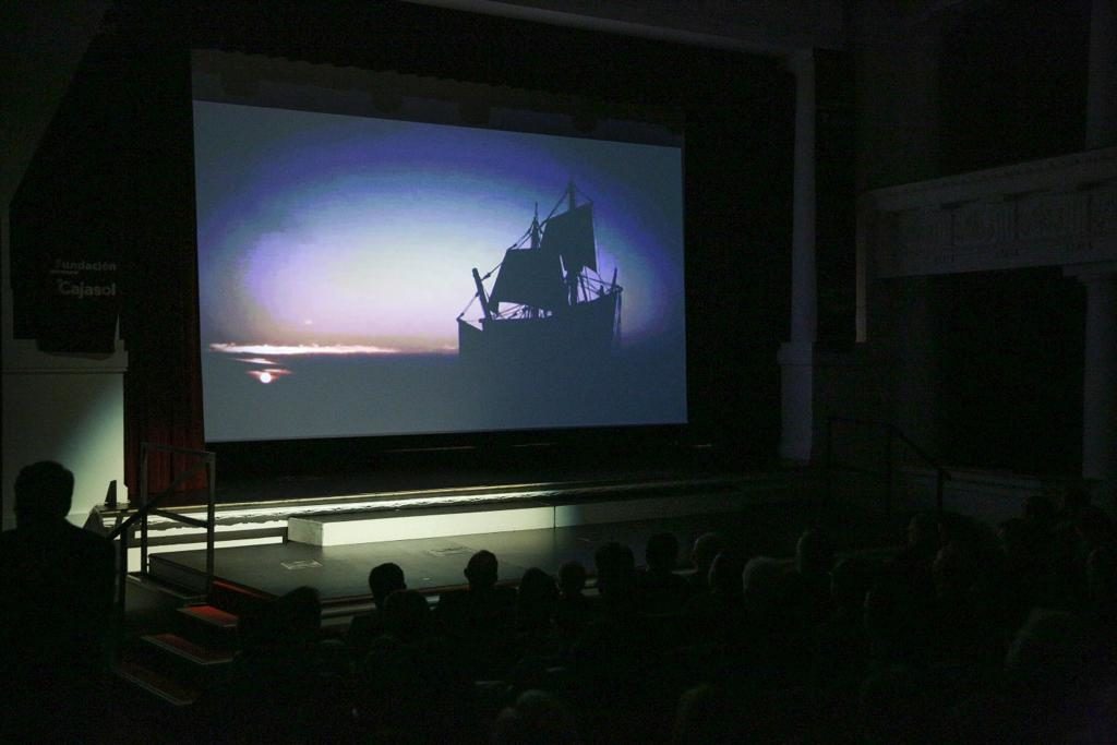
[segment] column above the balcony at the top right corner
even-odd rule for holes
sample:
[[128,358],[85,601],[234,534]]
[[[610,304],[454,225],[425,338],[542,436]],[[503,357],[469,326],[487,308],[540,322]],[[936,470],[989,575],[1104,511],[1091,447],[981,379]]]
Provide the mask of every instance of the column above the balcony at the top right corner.
[[1117,0],[1094,0],[1086,149],[1117,144]]

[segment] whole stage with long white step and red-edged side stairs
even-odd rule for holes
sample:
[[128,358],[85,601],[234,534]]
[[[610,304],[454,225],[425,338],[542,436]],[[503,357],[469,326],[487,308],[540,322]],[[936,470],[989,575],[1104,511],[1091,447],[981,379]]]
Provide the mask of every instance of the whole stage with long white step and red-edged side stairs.
[[[733,478],[505,485],[505,489],[450,489],[422,494],[349,495],[270,504],[223,505],[225,539],[214,551],[211,581],[197,534],[165,535],[149,555],[149,572],[130,576],[125,603],[128,641],[117,674],[175,708],[187,707],[219,679],[235,657],[238,617],[296,588],[315,588],[327,633],[344,634],[351,619],[371,608],[369,571],[394,562],[412,590],[438,602],[442,592],[466,585],[464,570],[477,551],[491,551],[498,581],[517,584],[531,567],[556,574],[567,561],[589,573],[595,593],[594,553],[607,542],[629,546],[645,563],[650,536],[671,533],[679,543],[678,572],[689,570],[695,538],[716,531],[746,556],[791,560],[802,531],[820,519],[833,526],[841,553],[876,551],[903,542],[903,516],[849,500],[823,509],[818,475],[780,471]],[[546,527],[517,528],[508,514],[544,516]],[[431,524],[430,518],[435,518]],[[290,539],[289,524],[331,522],[360,531],[430,531],[401,539],[321,545]],[[457,531],[488,523],[491,529]],[[385,528],[385,525],[388,528]],[[503,527],[500,527],[503,525]],[[252,532],[260,536],[252,536]],[[360,532],[359,531],[359,532]],[[248,537],[245,537],[248,535]],[[312,536],[313,532],[306,535]],[[244,542],[249,545],[231,545]],[[154,550],[154,548],[153,548]],[[132,550],[136,552],[135,548]],[[208,585],[208,589],[207,589]]]

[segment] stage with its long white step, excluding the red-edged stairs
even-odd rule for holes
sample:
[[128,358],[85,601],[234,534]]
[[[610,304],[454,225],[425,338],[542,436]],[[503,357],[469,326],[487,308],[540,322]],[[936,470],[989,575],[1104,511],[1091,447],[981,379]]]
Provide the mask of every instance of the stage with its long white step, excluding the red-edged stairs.
[[[770,474],[685,484],[583,485],[577,489],[506,491],[487,497],[456,494],[474,502],[440,505],[432,502],[447,499],[448,495],[428,493],[426,499],[402,504],[381,495],[379,509],[367,502],[356,506],[353,502],[293,502],[286,505],[288,514],[281,518],[289,525],[305,520],[321,520],[327,526],[331,520],[357,522],[372,526],[362,528],[370,531],[378,523],[388,523],[392,531],[407,532],[412,529],[408,525],[435,517],[449,520],[450,528],[404,539],[315,545],[290,539],[294,528],[288,527],[267,543],[219,547],[214,552],[214,594],[238,592],[267,598],[311,585],[321,593],[327,615],[345,614],[367,604],[369,570],[384,562],[403,569],[409,588],[437,595],[465,583],[466,562],[480,550],[497,555],[502,582],[516,583],[533,566],[554,574],[566,561],[581,562],[592,576],[593,554],[602,544],[618,541],[630,546],[639,565],[648,538],[665,532],[679,542],[680,569],[688,565],[695,538],[710,531],[722,533],[748,555],[791,556],[800,533],[819,522],[818,494],[809,487],[803,475]],[[508,522],[507,515],[523,513],[547,515],[546,526],[517,529],[516,520]],[[275,533],[277,522],[279,518],[270,515],[264,523],[270,526],[265,532]],[[860,513],[847,515],[841,522],[846,526],[840,550],[879,546],[898,542],[894,536],[903,535],[894,532],[895,525]],[[485,523],[505,527],[452,531],[454,525]],[[150,556],[150,577],[199,594],[204,592],[204,550],[175,550],[174,545],[162,548]]]

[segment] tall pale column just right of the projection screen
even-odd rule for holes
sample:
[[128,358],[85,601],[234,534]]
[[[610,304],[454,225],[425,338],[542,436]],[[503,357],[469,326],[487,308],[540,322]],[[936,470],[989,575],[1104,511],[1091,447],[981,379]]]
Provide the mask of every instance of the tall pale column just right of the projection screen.
[[795,183],[791,247],[791,341],[780,346],[782,428],[780,457],[805,464],[813,441],[814,338],[818,296],[814,277],[814,54],[792,52],[795,75]]

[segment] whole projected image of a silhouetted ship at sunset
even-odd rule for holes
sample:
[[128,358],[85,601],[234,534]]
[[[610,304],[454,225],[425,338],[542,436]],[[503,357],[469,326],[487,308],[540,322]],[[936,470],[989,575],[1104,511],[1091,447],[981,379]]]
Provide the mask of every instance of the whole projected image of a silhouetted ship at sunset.
[[677,147],[194,102],[209,441],[686,421]]

